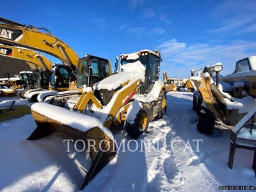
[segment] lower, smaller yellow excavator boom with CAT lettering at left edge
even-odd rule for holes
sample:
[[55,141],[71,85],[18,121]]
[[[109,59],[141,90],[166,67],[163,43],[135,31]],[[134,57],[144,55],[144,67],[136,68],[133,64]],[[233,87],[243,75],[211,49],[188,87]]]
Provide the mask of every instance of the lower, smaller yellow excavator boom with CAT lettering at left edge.
[[42,54],[23,47],[0,44],[0,56],[26,61],[33,69],[51,70],[52,62]]

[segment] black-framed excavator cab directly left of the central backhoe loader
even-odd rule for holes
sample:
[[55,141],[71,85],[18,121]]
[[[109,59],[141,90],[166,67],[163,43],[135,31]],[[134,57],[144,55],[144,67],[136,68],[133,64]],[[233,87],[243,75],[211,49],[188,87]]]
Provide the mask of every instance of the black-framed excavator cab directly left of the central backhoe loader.
[[84,58],[79,60],[77,66],[77,88],[83,88],[83,85],[87,84],[89,67],[92,67],[92,84],[111,76],[109,60],[86,54]]

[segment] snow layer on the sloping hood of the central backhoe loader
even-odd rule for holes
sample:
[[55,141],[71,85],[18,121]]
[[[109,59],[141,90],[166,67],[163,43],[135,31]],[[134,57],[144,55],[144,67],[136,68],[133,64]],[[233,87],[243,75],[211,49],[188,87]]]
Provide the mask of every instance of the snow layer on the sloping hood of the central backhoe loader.
[[122,72],[119,74],[115,74],[113,76],[109,76],[106,79],[96,83],[93,86],[93,89],[108,89],[108,90],[115,90],[118,86],[124,84],[127,81],[131,81],[132,78],[137,77],[139,78],[138,72]]

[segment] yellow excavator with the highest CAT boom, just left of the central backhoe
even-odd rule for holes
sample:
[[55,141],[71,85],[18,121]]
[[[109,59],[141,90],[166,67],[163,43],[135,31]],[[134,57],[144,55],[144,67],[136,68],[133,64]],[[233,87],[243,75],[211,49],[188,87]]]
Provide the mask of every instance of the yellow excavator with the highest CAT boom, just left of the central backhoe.
[[[65,65],[68,65],[72,72],[68,73],[70,74],[70,77],[73,79],[73,81],[70,81],[69,88],[65,88],[62,90],[75,90],[75,92],[52,92],[52,95],[58,94],[58,99],[61,99],[65,96],[68,98],[71,97],[71,95],[81,95],[82,85],[77,86],[76,76],[80,78],[79,82],[83,82],[81,78],[86,77],[86,72],[81,76],[81,74],[76,73],[76,76],[74,76],[75,72],[77,72],[78,65],[80,68],[84,68],[84,65],[93,65],[93,81],[97,82],[101,79],[104,79],[108,76],[111,76],[111,64],[109,60],[103,59],[103,58],[97,58],[95,56],[86,55],[83,58],[79,58],[75,51],[73,51],[65,42],[62,42],[59,38],[52,35],[47,29],[35,27],[35,26],[26,26],[24,24],[19,24],[17,22],[13,22],[12,20],[4,19],[0,17],[0,29],[1,31],[5,31],[0,36],[0,43],[2,44],[8,44],[8,45],[15,45],[15,46],[22,46],[27,47],[29,49],[33,49],[36,51],[45,52],[47,54],[51,54],[52,56],[60,59]],[[44,31],[40,31],[44,29]],[[80,64],[79,64],[80,63]],[[85,64],[86,63],[86,64]],[[54,68],[56,69],[56,68]],[[58,73],[58,70],[54,70],[54,72]],[[54,76],[52,76],[54,77]],[[54,81],[53,78],[51,78],[50,81],[50,87],[49,89],[55,89],[56,86],[52,85],[52,81]],[[67,82],[67,81],[66,81]],[[60,90],[61,88],[59,88]],[[58,88],[57,88],[58,90]],[[43,101],[45,97],[50,97],[51,93],[42,93],[42,92],[36,92],[35,90],[26,92],[25,95],[29,98],[35,98]],[[43,95],[44,94],[44,95]],[[42,96],[42,97],[41,97]],[[32,100],[36,101],[36,100]]]

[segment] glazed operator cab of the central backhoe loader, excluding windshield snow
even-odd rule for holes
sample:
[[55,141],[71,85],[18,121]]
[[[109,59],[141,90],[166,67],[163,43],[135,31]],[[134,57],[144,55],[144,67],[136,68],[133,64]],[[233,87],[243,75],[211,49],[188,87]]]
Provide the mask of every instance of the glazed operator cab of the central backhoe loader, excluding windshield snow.
[[121,65],[140,61],[140,63],[145,67],[146,70],[145,70],[145,82],[140,83],[139,92],[141,94],[149,93],[154,86],[154,82],[159,79],[160,62],[162,61],[161,55],[157,50],[155,52],[150,50],[141,50],[139,52],[136,52],[136,54],[138,54],[138,58],[134,60],[131,60],[131,59],[127,60],[128,55],[122,54],[120,56]]

